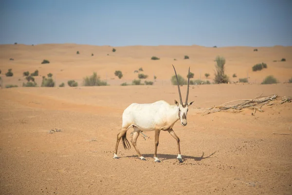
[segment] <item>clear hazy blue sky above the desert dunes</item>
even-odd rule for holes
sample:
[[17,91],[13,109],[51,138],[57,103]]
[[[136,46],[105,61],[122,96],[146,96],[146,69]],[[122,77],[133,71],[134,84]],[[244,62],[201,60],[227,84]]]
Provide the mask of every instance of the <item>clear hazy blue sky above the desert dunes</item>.
[[0,44],[292,46],[292,0],[0,0]]

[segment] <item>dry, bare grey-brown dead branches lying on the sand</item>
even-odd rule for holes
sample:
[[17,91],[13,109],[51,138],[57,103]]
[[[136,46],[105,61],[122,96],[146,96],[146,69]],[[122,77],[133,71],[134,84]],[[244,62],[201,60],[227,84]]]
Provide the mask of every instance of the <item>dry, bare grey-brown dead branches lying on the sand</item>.
[[[254,99],[238,99],[234,101],[229,101],[226,103],[223,103],[219,106],[214,106],[212,108],[209,108],[205,112],[202,113],[202,116],[208,115],[211,113],[216,113],[220,111],[231,111],[234,113],[241,112],[242,109],[247,108],[247,109],[253,109],[254,112],[252,115],[256,114],[256,111],[263,112],[262,106],[263,105],[273,105],[274,103],[271,101],[274,101],[278,95],[274,94],[271,96],[259,96]],[[292,98],[285,96],[281,98],[281,104],[285,102],[291,102]],[[235,102],[239,102],[236,103]]]

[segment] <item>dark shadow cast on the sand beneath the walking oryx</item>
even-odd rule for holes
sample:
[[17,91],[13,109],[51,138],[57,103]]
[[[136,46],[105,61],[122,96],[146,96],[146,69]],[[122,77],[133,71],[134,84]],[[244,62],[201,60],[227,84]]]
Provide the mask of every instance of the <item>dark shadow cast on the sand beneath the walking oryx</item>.
[[[182,158],[183,158],[183,162],[186,160],[186,159],[194,159],[196,161],[201,161],[205,158],[210,158],[212,157],[213,155],[215,155],[215,153],[218,152],[218,151],[215,151],[213,152],[211,155],[209,156],[204,156],[205,153],[202,152],[202,155],[200,157],[197,157],[197,156],[185,156],[185,155],[182,155]],[[153,157],[153,154],[143,154],[144,157]],[[125,156],[125,157],[138,157],[137,155],[135,156]],[[157,154],[157,157],[161,160],[161,161],[164,161],[164,160],[168,160],[168,159],[177,159],[177,155],[167,155],[167,154]]]

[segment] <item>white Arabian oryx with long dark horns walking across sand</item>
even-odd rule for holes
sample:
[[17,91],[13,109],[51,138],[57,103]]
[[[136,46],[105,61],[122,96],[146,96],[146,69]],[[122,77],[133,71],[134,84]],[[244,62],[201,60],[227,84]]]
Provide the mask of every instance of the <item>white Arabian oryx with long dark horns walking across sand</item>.
[[[173,66],[173,65],[172,65]],[[173,66],[175,76],[177,79],[179,95],[180,95],[180,103],[177,100],[174,100],[176,105],[170,105],[164,100],[156,101],[150,104],[137,104],[132,103],[125,109],[123,113],[123,124],[121,132],[117,135],[117,143],[114,150],[113,158],[118,158],[118,146],[121,138],[123,138],[123,146],[125,149],[130,149],[130,144],[126,137],[127,131],[129,128],[133,127],[133,137],[131,142],[138,154],[138,157],[141,160],[146,160],[140,153],[136,141],[140,134],[143,131],[155,131],[155,150],[154,150],[154,161],[160,162],[157,157],[157,146],[159,143],[159,134],[160,131],[168,131],[168,133],[177,140],[178,145],[178,160],[183,162],[181,156],[181,148],[180,148],[180,138],[174,133],[172,127],[176,121],[180,120],[181,124],[185,126],[187,124],[186,116],[188,111],[188,106],[192,105],[194,101],[187,102],[188,92],[189,92],[189,84],[190,77],[188,77],[187,81],[187,91],[185,102],[183,103],[182,94],[180,90],[179,80],[176,73],[176,70]],[[188,75],[190,74],[190,68]]]

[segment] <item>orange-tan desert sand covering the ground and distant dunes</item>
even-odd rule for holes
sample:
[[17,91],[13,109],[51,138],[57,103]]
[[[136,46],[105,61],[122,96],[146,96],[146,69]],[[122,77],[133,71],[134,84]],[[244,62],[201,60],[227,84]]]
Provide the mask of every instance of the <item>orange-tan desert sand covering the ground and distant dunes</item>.
[[[292,103],[263,106],[264,112],[243,110],[202,116],[214,105],[236,99],[277,94],[292,97],[292,47],[202,46],[92,46],[77,44],[0,45],[2,84],[18,88],[0,90],[0,194],[1,195],[126,195],[126,194],[292,194]],[[76,55],[76,51],[80,54]],[[91,56],[91,53],[94,56]],[[109,55],[107,55],[109,54]],[[190,59],[183,59],[188,55]],[[231,81],[249,77],[250,83],[191,85],[187,126],[179,122],[174,131],[181,139],[183,163],[177,145],[161,132],[155,163],[154,132],[138,138],[137,146],[146,161],[137,158],[132,147],[120,143],[119,159],[113,159],[122,113],[133,102],[151,103],[179,100],[174,75],[209,81],[214,78],[214,59],[226,58]],[[160,60],[151,60],[157,56]],[[13,58],[14,60],[9,60]],[[279,60],[285,58],[285,62]],[[41,64],[48,59],[49,64]],[[177,60],[174,60],[177,59]],[[278,60],[273,62],[273,60]],[[265,62],[267,69],[253,72],[252,66]],[[120,86],[131,83],[143,67],[152,86]],[[5,77],[12,68],[13,77]],[[56,86],[22,86],[24,71],[39,71],[36,81],[53,74]],[[114,76],[121,70],[124,77]],[[82,79],[97,72],[110,86],[81,86]],[[232,75],[236,73],[237,78]],[[268,75],[280,83],[261,85]],[[68,87],[75,79],[78,87]],[[186,86],[181,87],[183,99]],[[50,130],[61,130],[52,133]],[[127,137],[130,140],[130,132]],[[51,132],[51,133],[50,133]],[[273,133],[282,133],[280,135]]]

